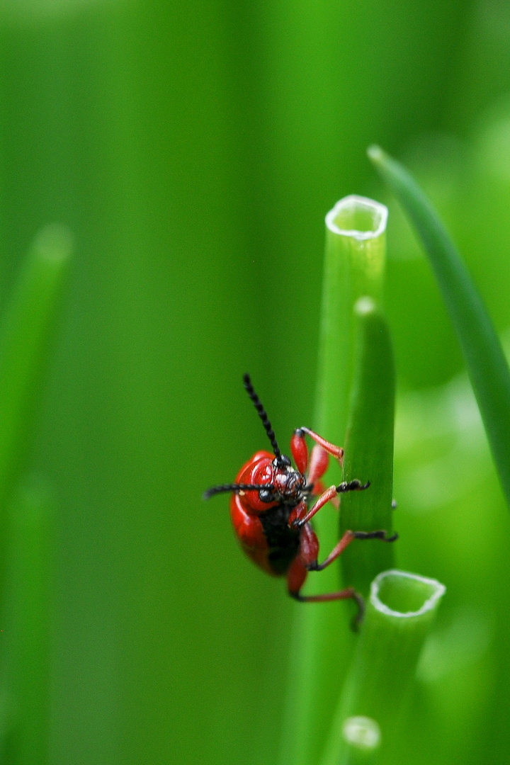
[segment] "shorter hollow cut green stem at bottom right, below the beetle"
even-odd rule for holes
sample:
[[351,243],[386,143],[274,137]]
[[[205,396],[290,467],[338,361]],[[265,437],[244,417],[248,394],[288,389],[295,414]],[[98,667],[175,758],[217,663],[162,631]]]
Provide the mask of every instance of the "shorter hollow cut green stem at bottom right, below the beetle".
[[[321,765],[356,763],[365,754],[373,762],[391,752],[421,647],[444,592],[435,579],[406,571],[384,571],[372,582],[362,636]],[[375,721],[380,737],[372,736],[371,751],[360,752],[366,741],[349,735],[352,718]]]

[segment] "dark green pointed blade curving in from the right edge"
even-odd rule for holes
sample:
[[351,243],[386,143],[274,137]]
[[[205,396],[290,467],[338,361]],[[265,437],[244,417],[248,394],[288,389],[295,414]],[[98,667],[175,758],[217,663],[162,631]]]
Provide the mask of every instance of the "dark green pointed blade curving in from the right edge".
[[501,344],[466,266],[411,174],[377,146],[369,158],[420,235],[455,327],[492,457],[510,506],[510,373]]

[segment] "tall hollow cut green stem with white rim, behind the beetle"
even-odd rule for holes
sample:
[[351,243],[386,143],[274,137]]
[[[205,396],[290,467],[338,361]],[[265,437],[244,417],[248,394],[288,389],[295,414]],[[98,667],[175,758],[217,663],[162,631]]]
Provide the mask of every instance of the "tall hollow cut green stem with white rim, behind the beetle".
[[[354,356],[353,307],[362,295],[382,296],[388,210],[365,197],[346,197],[326,216],[326,255],[320,319],[319,369],[313,428],[343,445]],[[326,477],[340,480],[339,466]],[[316,516],[323,555],[338,541],[338,513]],[[310,577],[314,592],[339,589],[337,564]],[[281,765],[316,765],[330,729],[342,674],[339,653],[352,643],[349,616],[339,603],[296,607]]]

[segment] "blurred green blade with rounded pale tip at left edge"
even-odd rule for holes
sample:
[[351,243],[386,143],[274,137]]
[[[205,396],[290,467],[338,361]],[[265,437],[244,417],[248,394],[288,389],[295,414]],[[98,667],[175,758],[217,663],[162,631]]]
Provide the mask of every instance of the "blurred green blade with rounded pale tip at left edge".
[[42,229],[0,324],[0,514],[21,467],[70,252],[67,229]]

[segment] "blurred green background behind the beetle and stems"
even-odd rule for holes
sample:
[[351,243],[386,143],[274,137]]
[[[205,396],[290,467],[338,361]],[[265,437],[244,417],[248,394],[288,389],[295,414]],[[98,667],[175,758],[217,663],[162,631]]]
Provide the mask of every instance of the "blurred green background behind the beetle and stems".
[[[16,702],[37,756],[5,761],[273,763],[292,604],[201,495],[267,445],[245,371],[282,444],[310,424],[324,215],[388,203],[370,142],[510,327],[510,6],[2,0],[0,57],[0,303],[41,226],[76,239],[27,466],[54,506],[49,701]],[[506,763],[508,512],[389,205],[398,562],[448,588],[401,761]]]

